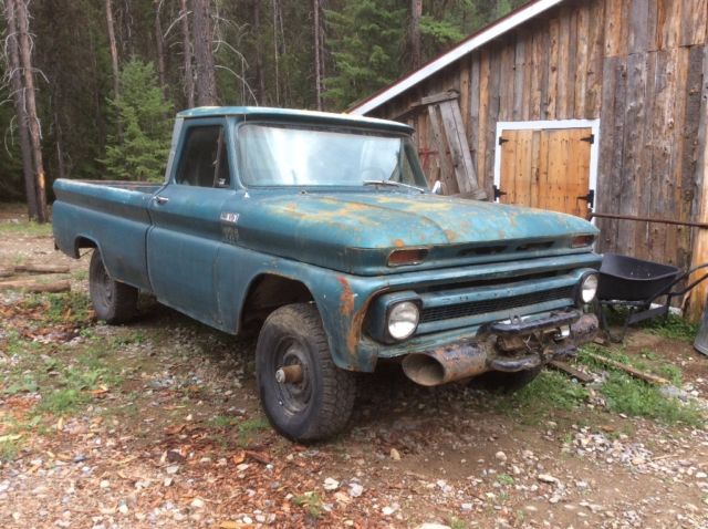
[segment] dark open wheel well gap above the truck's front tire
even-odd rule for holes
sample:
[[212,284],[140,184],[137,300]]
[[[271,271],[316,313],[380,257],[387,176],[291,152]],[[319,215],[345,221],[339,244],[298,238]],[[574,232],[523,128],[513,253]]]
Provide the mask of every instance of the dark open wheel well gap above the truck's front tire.
[[240,328],[256,331],[275,309],[312,300],[310,289],[301,281],[282,276],[260,276],[251,283],[241,308]]

